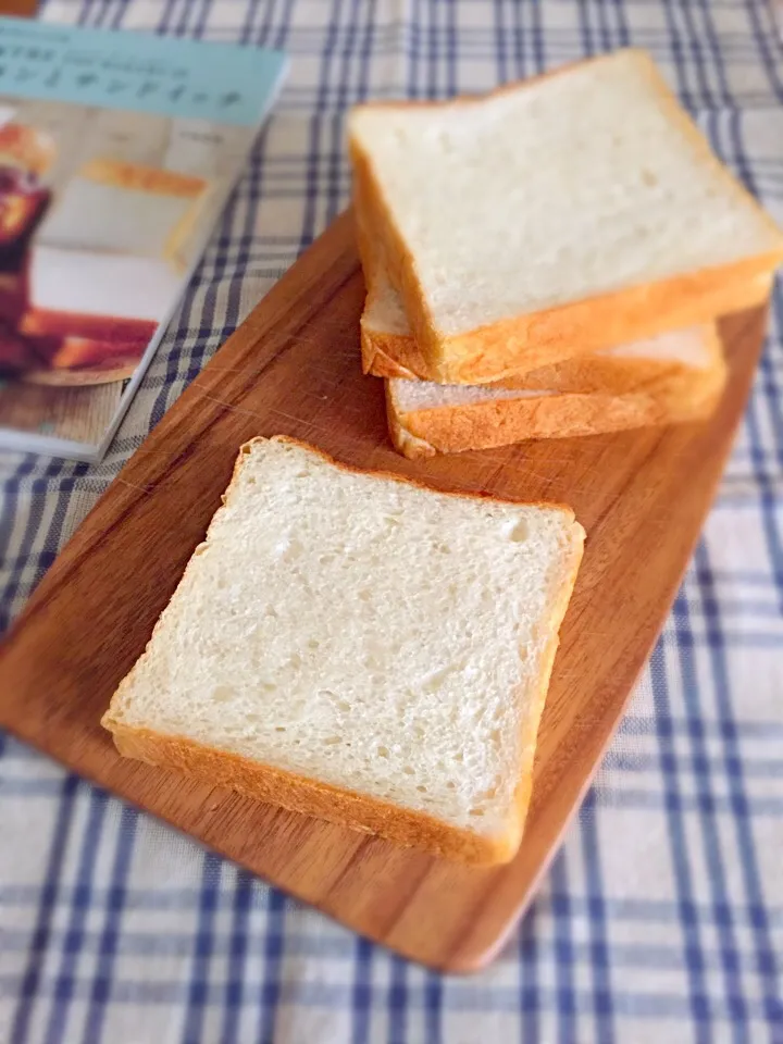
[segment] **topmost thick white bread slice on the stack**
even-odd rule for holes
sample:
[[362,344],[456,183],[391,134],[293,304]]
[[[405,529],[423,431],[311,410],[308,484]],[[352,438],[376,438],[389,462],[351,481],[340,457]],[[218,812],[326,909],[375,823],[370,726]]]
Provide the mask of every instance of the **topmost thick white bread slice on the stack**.
[[783,260],[783,234],[642,51],[480,99],[361,105],[349,140],[366,223],[444,383],[749,307]]

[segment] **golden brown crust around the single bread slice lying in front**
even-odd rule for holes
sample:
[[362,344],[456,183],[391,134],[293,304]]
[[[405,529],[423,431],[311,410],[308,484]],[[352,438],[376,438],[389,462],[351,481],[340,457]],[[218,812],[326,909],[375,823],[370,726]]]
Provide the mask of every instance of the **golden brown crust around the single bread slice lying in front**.
[[[368,474],[368,472],[362,469],[352,468],[335,461],[327,453],[323,452],[323,450],[300,442],[299,439],[279,435],[275,436],[273,440],[300,446],[310,452],[316,453],[344,471]],[[241,447],[234,464],[232,482],[223,498],[224,502],[231,497],[232,485],[241,470],[245,457],[251,451],[252,445],[259,442],[266,442],[266,439],[261,437],[254,438]],[[407,476],[388,472],[372,472],[372,474],[420,488],[430,488],[423,483]],[[499,504],[515,502],[501,500],[485,494],[452,493],[447,495],[458,497],[467,496],[471,499],[493,500]],[[552,606],[547,622],[548,625],[552,626],[557,632],[576,579],[576,572],[582,558],[584,531],[579,523],[575,522],[573,511],[570,508],[557,505],[546,505],[546,507],[562,511],[569,517],[573,526],[571,534],[572,557],[569,563],[568,581],[566,584],[558,584],[556,591],[552,592]],[[209,539],[209,531],[207,533],[207,539]],[[192,558],[185,569],[179,585],[184,582]],[[177,585],[177,589],[179,585]],[[172,597],[175,596],[176,592]],[[161,619],[162,618],[159,618],[154,630],[160,626]],[[540,717],[539,707],[543,707],[546,696],[555,648],[557,648],[556,633],[543,654],[542,670],[536,693],[531,694],[531,698],[535,698],[536,700],[534,704],[534,714],[537,713],[538,717]],[[137,661],[137,663],[139,661]],[[327,783],[320,783],[315,780],[287,772],[273,766],[263,765],[229,751],[207,747],[184,736],[164,735],[149,729],[128,725],[122,720],[122,699],[124,691],[132,684],[135,670],[136,666],[134,666],[130,672],[121,681],[116,692],[112,696],[108,710],[101,719],[103,728],[113,734],[117,750],[125,757],[138,758],[150,765],[158,765],[187,772],[209,783],[231,787],[257,800],[271,801],[283,808],[288,808],[307,816],[319,816],[322,819],[327,819],[331,822],[336,822],[344,826],[375,833],[397,844],[415,846],[427,852],[437,853],[447,859],[474,865],[500,863],[513,858],[517,852],[530,797],[531,782],[529,776],[532,771],[533,749],[529,749],[527,745],[524,747],[525,761],[523,766],[521,766],[522,774],[514,795],[515,816],[510,818],[505,834],[498,836],[480,835],[473,831],[448,825],[424,812],[418,812],[378,798],[335,787]],[[531,747],[535,743],[537,728],[537,718],[535,722],[531,719],[526,725],[525,743],[527,744],[530,739]]]

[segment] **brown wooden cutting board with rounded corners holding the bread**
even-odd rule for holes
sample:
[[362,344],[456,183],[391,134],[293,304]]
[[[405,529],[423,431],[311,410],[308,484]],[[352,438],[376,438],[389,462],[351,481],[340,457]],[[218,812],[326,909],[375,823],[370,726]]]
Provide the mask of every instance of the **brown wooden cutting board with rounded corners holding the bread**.
[[[84,522],[0,655],[0,724],[358,932],[437,968],[489,960],[575,812],[676,592],[720,477],[765,315],[726,320],[711,422],[411,462],[360,373],[364,286],[341,216],[170,410]],[[144,649],[253,435],[443,489],[564,501],[587,547],[542,722],[533,803],[508,867],[475,870],[119,757],[98,724]]]

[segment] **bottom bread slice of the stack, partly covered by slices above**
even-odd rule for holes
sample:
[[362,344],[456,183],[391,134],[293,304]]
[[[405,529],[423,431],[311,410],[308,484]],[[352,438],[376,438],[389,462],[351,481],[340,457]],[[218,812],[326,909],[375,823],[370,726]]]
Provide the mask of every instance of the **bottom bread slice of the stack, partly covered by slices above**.
[[[497,385],[444,385],[391,377],[386,381],[389,433],[406,457],[432,457],[467,449],[489,449],[529,438],[597,435],[649,424],[708,417],[725,384],[726,366],[714,326],[696,326],[658,338],[660,368],[651,356],[634,390],[613,391],[630,381],[638,351],[650,345],[607,349],[601,368],[585,361],[583,391],[501,388]],[[674,362],[674,365],[669,365]],[[617,365],[616,365],[617,364]],[[568,366],[568,363],[562,363]],[[612,366],[616,366],[612,374]],[[558,366],[546,366],[556,371]],[[534,371],[537,376],[544,371]],[[601,386],[604,385],[604,386]]]

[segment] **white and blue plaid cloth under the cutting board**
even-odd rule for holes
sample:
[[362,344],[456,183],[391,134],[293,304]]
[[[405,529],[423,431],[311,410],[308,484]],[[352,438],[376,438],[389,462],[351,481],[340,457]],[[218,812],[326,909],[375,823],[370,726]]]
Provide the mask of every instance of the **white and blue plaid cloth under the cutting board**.
[[[783,223],[772,0],[50,0],[54,22],[287,50],[291,73],[103,463],[0,458],[0,618],[345,204],[346,108],[647,48]],[[537,900],[440,977],[0,737],[11,1044],[783,1042],[783,291],[675,608]]]

